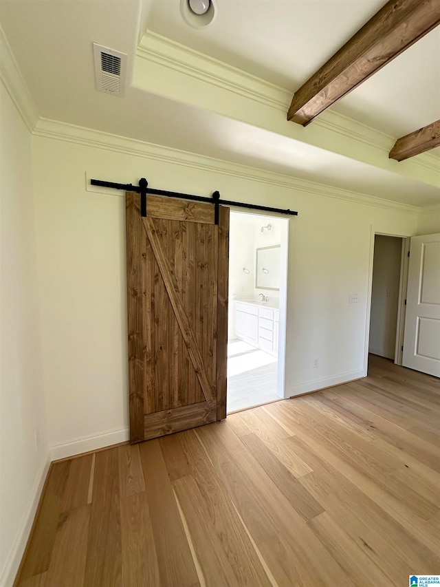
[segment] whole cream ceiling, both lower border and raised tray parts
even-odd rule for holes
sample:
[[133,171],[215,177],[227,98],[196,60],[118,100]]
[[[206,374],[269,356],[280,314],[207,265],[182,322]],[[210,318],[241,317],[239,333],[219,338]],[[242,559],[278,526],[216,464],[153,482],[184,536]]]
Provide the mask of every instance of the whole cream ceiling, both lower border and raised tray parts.
[[[92,43],[128,54],[131,70],[137,41],[148,27],[289,89],[293,95],[377,12],[383,0],[217,3],[217,20],[205,30],[195,30],[184,23],[179,0],[0,0],[0,23],[39,115],[44,118],[388,200],[421,206],[440,202],[436,186],[207,109],[134,87],[127,88],[124,98],[96,92]],[[439,49],[440,28],[332,108],[393,138],[439,119]]]

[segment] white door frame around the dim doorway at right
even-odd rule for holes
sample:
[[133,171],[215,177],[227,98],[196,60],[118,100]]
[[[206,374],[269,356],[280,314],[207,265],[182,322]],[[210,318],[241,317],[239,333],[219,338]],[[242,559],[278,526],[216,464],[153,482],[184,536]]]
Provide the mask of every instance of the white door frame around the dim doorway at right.
[[410,235],[401,233],[391,233],[390,231],[380,231],[375,226],[371,226],[370,235],[370,259],[369,259],[369,284],[366,299],[366,323],[365,323],[365,345],[364,345],[364,376],[367,376],[369,365],[369,343],[370,343],[370,321],[371,321],[371,295],[373,293],[373,264],[374,264],[374,243],[375,236],[401,238],[401,258],[400,258],[400,278],[399,278],[399,301],[397,305],[397,325],[396,325],[396,344],[394,362],[401,365],[402,351],[401,346],[404,343],[405,331],[405,314],[406,314],[406,289],[408,287],[408,252],[410,250]]

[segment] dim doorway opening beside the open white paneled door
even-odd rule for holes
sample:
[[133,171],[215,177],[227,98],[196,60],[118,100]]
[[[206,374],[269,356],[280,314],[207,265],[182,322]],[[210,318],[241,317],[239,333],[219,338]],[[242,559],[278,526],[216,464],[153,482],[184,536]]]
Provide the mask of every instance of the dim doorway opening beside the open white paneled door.
[[408,280],[409,240],[376,234],[369,330],[369,355],[401,365]]

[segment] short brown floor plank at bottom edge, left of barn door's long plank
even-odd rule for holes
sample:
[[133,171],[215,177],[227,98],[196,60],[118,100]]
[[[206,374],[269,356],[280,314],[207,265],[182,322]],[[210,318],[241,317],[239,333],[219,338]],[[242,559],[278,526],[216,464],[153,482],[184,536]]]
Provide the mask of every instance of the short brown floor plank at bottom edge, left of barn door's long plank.
[[159,564],[145,492],[121,499],[122,584],[159,587]]

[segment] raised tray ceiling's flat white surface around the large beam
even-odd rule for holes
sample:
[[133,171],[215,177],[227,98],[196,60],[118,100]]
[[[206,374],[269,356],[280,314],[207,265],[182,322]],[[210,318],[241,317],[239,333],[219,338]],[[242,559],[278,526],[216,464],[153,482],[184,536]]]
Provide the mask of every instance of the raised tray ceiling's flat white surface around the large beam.
[[[217,20],[188,27],[179,0],[153,0],[148,29],[292,91],[384,0],[219,0]],[[396,138],[440,118],[440,28],[334,106]]]

